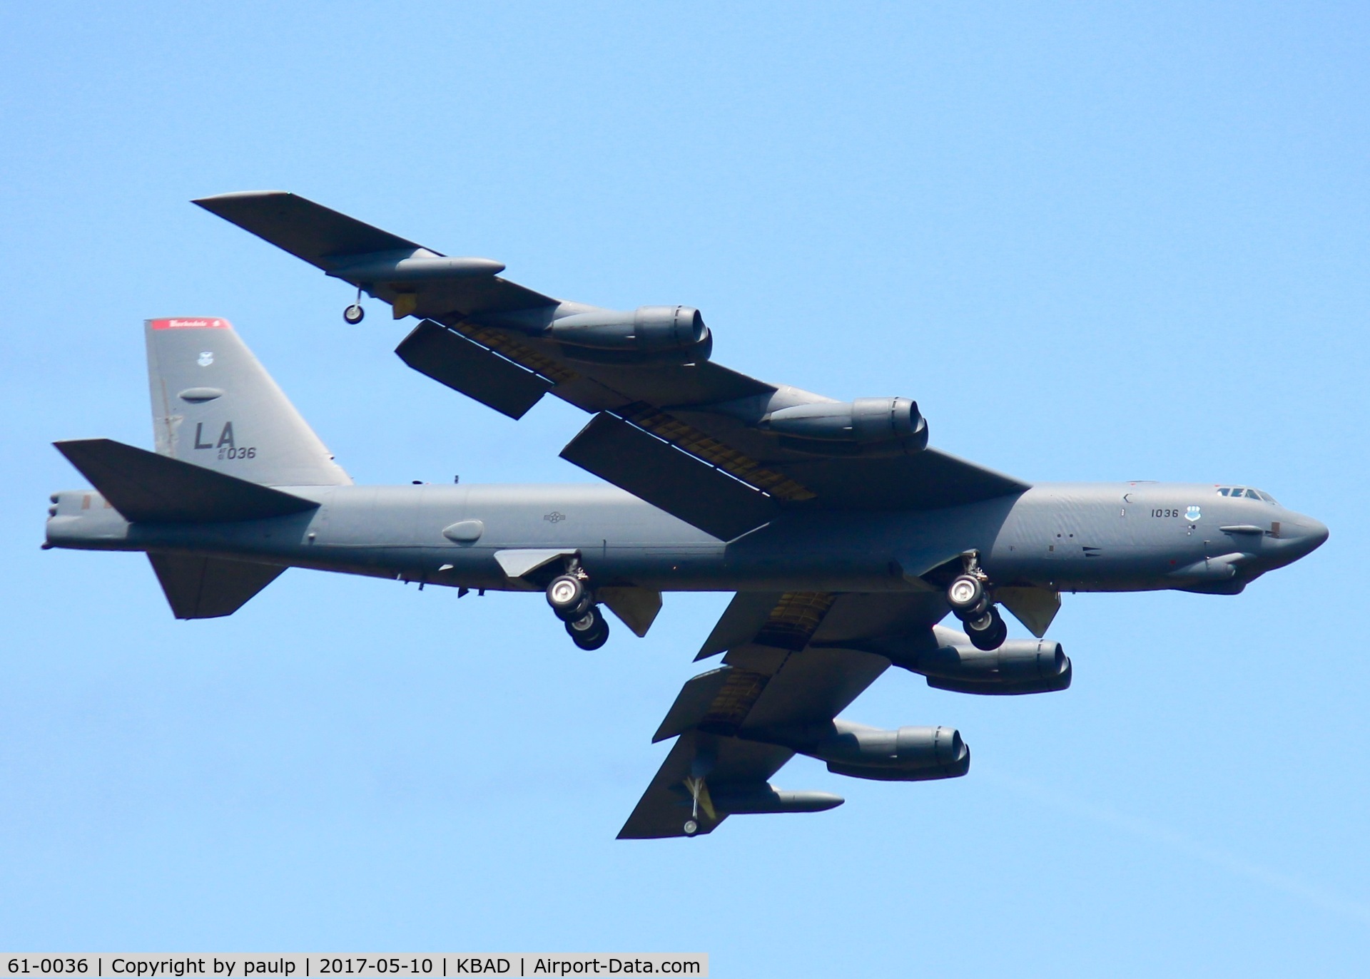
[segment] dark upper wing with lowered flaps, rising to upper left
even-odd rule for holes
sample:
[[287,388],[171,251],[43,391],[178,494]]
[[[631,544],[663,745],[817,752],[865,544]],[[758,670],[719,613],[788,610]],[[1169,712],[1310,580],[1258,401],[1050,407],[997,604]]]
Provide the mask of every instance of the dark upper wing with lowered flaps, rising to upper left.
[[501,278],[497,262],[448,257],[285,192],[195,203],[390,303],[396,319],[422,318],[396,351],[419,372],[511,418],[545,393],[592,412],[564,459],[722,539],[796,507],[919,509],[1028,489],[932,448],[777,435],[775,411],[840,404],[707,352],[689,361],[589,353],[553,338],[553,325],[610,314],[632,325],[633,314],[533,292]]

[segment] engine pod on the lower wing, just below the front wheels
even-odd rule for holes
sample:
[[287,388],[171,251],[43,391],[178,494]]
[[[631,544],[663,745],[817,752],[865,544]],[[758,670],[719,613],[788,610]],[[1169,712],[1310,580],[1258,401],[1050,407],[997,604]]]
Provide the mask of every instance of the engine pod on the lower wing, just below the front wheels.
[[1071,674],[1060,644],[1047,639],[1010,639],[991,650],[938,646],[919,653],[907,668],[938,690],[999,696],[1064,690]]

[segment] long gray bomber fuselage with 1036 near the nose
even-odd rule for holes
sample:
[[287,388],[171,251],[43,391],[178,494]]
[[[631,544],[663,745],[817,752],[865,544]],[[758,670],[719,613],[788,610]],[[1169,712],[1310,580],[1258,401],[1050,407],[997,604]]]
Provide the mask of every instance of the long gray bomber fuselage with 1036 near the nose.
[[55,494],[48,544],[507,590],[534,586],[510,578],[499,552],[552,549],[578,552],[597,582],[675,592],[907,590],[978,550],[1003,585],[1234,593],[1328,535],[1269,498],[1193,483],[1040,483],[932,511],[792,511],[730,542],[593,483],[282,489],[321,505],[267,520],[130,524],[99,493],[67,490]]

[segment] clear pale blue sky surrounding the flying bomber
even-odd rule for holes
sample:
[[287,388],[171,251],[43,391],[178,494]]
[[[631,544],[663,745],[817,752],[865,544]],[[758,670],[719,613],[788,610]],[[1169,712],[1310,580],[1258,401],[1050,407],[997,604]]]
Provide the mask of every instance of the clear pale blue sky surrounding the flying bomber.
[[[717,976],[1363,975],[1365,4],[0,8],[0,948],[703,950]],[[615,842],[726,596],[575,650],[536,596],[290,571],[174,622],[40,552],[55,438],[151,445],[141,320],[232,319],[362,482],[586,479],[186,201],[279,188],[715,357],[906,394],[1026,479],[1247,482],[1332,539],[1066,597],[1074,686],[886,675],[964,779]],[[1015,627],[1017,628],[1017,627]]]

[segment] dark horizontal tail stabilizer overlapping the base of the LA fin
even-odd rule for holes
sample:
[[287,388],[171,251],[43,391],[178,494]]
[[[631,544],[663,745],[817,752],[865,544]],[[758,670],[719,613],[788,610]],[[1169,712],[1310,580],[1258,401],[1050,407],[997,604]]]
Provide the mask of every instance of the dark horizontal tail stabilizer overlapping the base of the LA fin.
[[[262,520],[319,504],[110,438],[53,442],[126,520]],[[245,600],[244,600],[245,601]]]

